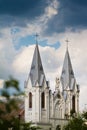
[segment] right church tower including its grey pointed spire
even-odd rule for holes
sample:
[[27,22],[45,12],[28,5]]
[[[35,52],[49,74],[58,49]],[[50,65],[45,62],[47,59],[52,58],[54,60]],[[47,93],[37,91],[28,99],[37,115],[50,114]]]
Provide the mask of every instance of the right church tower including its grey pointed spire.
[[62,74],[62,93],[65,100],[65,116],[79,112],[79,86],[76,83],[68,47],[66,50]]

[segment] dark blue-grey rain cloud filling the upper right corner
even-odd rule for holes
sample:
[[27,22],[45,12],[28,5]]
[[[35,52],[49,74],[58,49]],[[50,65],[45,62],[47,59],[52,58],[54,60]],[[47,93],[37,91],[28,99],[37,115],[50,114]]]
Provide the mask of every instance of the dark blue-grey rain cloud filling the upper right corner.
[[87,0],[58,0],[58,15],[49,21],[47,33],[87,28]]

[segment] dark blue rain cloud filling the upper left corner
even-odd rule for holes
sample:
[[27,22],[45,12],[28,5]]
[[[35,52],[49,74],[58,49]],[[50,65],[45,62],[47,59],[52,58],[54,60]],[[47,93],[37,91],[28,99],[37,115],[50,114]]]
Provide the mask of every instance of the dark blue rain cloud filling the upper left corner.
[[44,13],[47,0],[0,0],[0,27],[24,27]]

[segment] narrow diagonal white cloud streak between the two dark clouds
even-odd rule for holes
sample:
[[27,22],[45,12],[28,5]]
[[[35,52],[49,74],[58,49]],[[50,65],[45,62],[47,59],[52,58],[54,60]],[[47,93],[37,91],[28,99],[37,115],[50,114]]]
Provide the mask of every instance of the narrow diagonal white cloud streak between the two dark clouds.
[[11,37],[15,40],[15,42],[18,43],[19,39],[28,35],[34,35],[36,32],[41,35],[47,28],[49,20],[58,14],[58,6],[58,1],[54,0],[53,2],[49,3],[49,5],[45,8],[42,16],[36,17],[34,21],[26,22],[27,27],[22,28],[18,26],[13,26],[13,30],[15,30],[16,28],[19,31],[13,33]]

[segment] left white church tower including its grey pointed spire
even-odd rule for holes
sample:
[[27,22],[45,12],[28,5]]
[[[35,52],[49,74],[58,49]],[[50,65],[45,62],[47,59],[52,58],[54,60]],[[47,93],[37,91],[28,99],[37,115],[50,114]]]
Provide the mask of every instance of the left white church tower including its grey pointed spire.
[[49,85],[36,44],[28,80],[25,82],[25,121],[49,122]]

